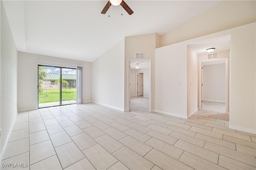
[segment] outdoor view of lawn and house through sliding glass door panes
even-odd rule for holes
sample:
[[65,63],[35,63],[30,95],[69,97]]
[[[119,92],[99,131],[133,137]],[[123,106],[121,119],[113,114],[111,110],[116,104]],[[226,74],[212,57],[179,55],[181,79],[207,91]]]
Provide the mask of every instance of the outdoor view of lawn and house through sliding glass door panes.
[[38,66],[38,84],[39,108],[76,103],[76,69]]

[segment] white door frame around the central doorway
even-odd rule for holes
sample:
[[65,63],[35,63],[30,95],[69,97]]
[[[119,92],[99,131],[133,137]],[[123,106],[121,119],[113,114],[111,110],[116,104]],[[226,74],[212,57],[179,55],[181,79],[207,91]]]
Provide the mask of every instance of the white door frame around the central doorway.
[[[126,104],[127,105],[127,109],[128,111],[130,111],[130,99],[131,99],[131,94],[130,94],[130,62],[131,61],[148,61],[149,62],[149,67],[148,67],[148,76],[149,76],[149,112],[152,111],[152,85],[151,85],[151,82],[152,82],[152,67],[151,67],[151,59],[128,59],[128,62],[127,62],[127,68],[128,68],[128,81],[127,81],[127,87],[128,87],[128,95],[125,95],[124,94],[124,97],[126,97]],[[144,78],[143,78],[144,79]]]

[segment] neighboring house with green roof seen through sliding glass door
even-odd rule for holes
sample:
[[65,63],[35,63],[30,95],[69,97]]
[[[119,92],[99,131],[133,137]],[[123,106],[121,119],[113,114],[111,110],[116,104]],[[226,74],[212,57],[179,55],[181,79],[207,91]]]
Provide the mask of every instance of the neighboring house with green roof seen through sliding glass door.
[[[60,74],[55,73],[47,73],[46,79],[43,81],[43,88],[46,89],[46,85],[48,85],[48,89],[60,89]],[[68,81],[68,86],[64,83],[64,88],[76,88],[76,75],[74,74],[62,74],[62,79]]]

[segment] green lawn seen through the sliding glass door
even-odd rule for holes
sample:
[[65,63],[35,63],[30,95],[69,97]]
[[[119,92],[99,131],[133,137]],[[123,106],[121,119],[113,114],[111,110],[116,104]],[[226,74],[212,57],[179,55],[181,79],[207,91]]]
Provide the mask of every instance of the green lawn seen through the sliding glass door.
[[[76,89],[62,89],[62,101],[76,100]],[[48,97],[46,97],[46,89],[39,94],[39,103],[49,103],[60,101],[60,89],[48,89]]]

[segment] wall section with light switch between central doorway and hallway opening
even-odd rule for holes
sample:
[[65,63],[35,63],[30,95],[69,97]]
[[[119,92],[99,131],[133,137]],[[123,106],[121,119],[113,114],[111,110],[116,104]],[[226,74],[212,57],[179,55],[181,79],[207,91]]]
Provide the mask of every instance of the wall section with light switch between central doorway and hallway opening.
[[156,49],[155,69],[155,111],[186,118],[187,44],[177,43]]

